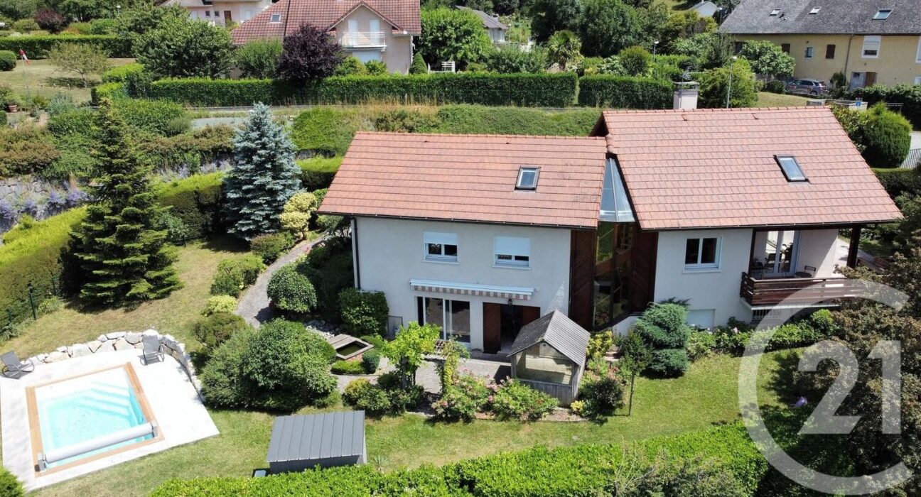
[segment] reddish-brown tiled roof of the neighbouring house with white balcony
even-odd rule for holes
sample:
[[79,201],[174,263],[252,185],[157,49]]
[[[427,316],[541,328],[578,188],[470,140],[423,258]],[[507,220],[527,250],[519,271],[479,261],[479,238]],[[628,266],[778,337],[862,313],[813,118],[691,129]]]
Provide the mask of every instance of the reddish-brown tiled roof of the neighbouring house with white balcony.
[[[234,44],[241,45],[261,38],[284,38],[305,24],[330,30],[359,6],[378,13],[394,33],[422,32],[419,0],[279,0],[240,24],[230,36]],[[281,21],[271,22],[273,14],[280,14]]]

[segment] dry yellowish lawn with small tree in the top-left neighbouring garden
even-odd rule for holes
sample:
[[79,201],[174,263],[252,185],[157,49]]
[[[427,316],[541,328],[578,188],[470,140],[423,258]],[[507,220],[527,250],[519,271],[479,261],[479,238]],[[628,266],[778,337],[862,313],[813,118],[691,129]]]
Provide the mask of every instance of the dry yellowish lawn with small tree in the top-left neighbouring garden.
[[[83,87],[80,75],[60,71],[47,59],[29,62],[31,64],[20,60],[15,70],[0,71],[0,85],[9,85],[13,87],[13,91],[24,97],[51,97],[55,93],[67,93],[78,102],[89,100],[89,88]],[[109,59],[113,67],[133,62],[134,59]],[[97,84],[99,77],[91,76],[89,85],[92,87]]]

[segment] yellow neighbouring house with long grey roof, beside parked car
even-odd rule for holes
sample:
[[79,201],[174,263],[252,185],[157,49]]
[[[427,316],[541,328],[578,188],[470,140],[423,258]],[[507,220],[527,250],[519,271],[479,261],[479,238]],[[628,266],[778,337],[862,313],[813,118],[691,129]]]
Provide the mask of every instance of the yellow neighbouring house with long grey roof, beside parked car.
[[769,40],[797,61],[797,78],[826,82],[841,72],[851,88],[921,84],[921,2],[917,0],[745,0],[720,30]]

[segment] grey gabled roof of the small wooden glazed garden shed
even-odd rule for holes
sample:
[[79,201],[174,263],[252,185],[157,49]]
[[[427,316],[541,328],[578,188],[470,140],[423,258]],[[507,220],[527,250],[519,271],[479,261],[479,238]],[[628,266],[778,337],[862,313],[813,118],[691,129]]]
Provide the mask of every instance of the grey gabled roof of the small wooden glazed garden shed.
[[582,367],[585,365],[590,336],[576,321],[554,310],[522,327],[508,354],[519,353],[532,345],[546,341],[557,352]]

